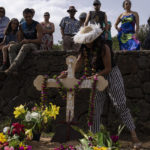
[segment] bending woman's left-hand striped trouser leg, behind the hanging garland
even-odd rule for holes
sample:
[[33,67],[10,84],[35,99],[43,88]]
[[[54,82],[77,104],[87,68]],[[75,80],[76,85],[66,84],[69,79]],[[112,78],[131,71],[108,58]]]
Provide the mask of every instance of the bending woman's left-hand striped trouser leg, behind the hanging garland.
[[90,130],[93,133],[100,131],[100,119],[103,112],[104,102],[106,100],[106,91],[97,91],[95,96],[95,116],[93,116],[93,125]]

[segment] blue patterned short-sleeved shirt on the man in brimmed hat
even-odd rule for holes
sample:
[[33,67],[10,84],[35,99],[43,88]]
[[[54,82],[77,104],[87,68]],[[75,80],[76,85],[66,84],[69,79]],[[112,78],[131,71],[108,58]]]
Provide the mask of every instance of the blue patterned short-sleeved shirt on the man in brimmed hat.
[[75,35],[80,28],[80,22],[77,19],[65,17],[60,22],[60,27],[64,29],[65,35]]

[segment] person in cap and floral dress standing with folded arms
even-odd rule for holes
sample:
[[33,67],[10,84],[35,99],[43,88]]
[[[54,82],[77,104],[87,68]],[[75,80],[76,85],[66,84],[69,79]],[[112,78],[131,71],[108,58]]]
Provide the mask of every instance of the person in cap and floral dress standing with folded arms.
[[41,49],[42,50],[51,50],[53,47],[53,33],[55,32],[54,23],[49,21],[50,14],[49,12],[44,13],[44,22],[41,22],[43,27],[43,38]]

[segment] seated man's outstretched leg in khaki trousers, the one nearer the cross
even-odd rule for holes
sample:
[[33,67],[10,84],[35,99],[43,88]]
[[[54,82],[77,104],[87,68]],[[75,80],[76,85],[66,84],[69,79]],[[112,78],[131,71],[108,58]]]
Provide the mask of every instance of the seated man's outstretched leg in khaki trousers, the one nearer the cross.
[[31,52],[32,50],[36,50],[37,49],[37,46],[35,44],[32,44],[32,43],[29,43],[29,44],[24,44],[17,57],[15,58],[14,62],[11,64],[9,71],[13,71],[13,70],[16,70],[21,64],[22,62],[24,61],[24,58],[27,56],[27,54],[29,52]]

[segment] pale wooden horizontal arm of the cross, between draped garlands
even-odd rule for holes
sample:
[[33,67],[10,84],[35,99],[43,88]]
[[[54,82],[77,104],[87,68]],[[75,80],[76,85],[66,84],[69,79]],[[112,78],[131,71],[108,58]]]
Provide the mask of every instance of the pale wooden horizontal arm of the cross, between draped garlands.
[[[34,80],[34,86],[36,87],[37,90],[41,91],[42,90],[42,83],[44,81],[44,76],[39,75],[37,78]],[[60,79],[64,87],[66,88],[73,88],[74,85],[79,81],[75,78],[65,78],[65,79]],[[92,79],[86,79],[82,82],[79,88],[92,88]],[[108,86],[108,81],[104,79],[102,76],[98,76],[98,83],[97,83],[97,89],[99,91],[104,91],[106,87]],[[58,88],[59,85],[56,83],[55,79],[48,79],[47,82],[47,87],[53,87],[53,88]]]

